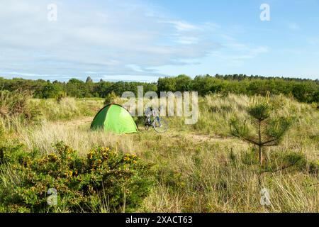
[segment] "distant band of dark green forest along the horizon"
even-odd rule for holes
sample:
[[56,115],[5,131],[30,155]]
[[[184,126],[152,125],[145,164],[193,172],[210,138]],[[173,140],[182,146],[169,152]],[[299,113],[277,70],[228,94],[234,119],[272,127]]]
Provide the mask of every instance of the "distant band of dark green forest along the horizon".
[[319,81],[311,79],[294,79],[284,77],[247,76],[245,74],[197,76],[194,79],[181,74],[177,77],[159,78],[157,83],[143,82],[107,82],[101,79],[93,82],[87,77],[86,82],[79,79],[69,79],[68,82],[45,81],[43,79],[4,79],[0,77],[1,90],[27,90],[35,98],[49,99],[66,95],[77,98],[101,97],[111,92],[121,96],[125,91],[137,92],[137,87],[143,86],[144,92],[184,92],[196,91],[201,96],[211,93],[220,94],[284,94],[293,96],[301,102],[319,102]]

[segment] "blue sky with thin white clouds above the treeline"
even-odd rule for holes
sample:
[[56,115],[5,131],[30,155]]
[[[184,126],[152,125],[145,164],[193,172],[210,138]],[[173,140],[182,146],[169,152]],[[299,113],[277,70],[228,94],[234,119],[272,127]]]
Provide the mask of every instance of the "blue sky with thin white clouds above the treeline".
[[[57,21],[48,21],[48,4]],[[261,4],[270,21],[261,21]],[[318,0],[0,0],[0,75],[155,82],[188,74],[319,79]]]

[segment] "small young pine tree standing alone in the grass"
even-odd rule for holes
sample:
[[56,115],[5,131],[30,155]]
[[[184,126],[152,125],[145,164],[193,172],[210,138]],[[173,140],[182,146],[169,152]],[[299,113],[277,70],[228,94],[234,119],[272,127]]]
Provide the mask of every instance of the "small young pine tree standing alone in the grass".
[[256,96],[247,108],[247,114],[252,118],[251,124],[248,124],[247,120],[233,118],[230,121],[230,133],[247,143],[257,145],[259,163],[262,165],[262,148],[279,145],[291,126],[291,117],[278,116],[269,104],[269,95],[266,98]]

